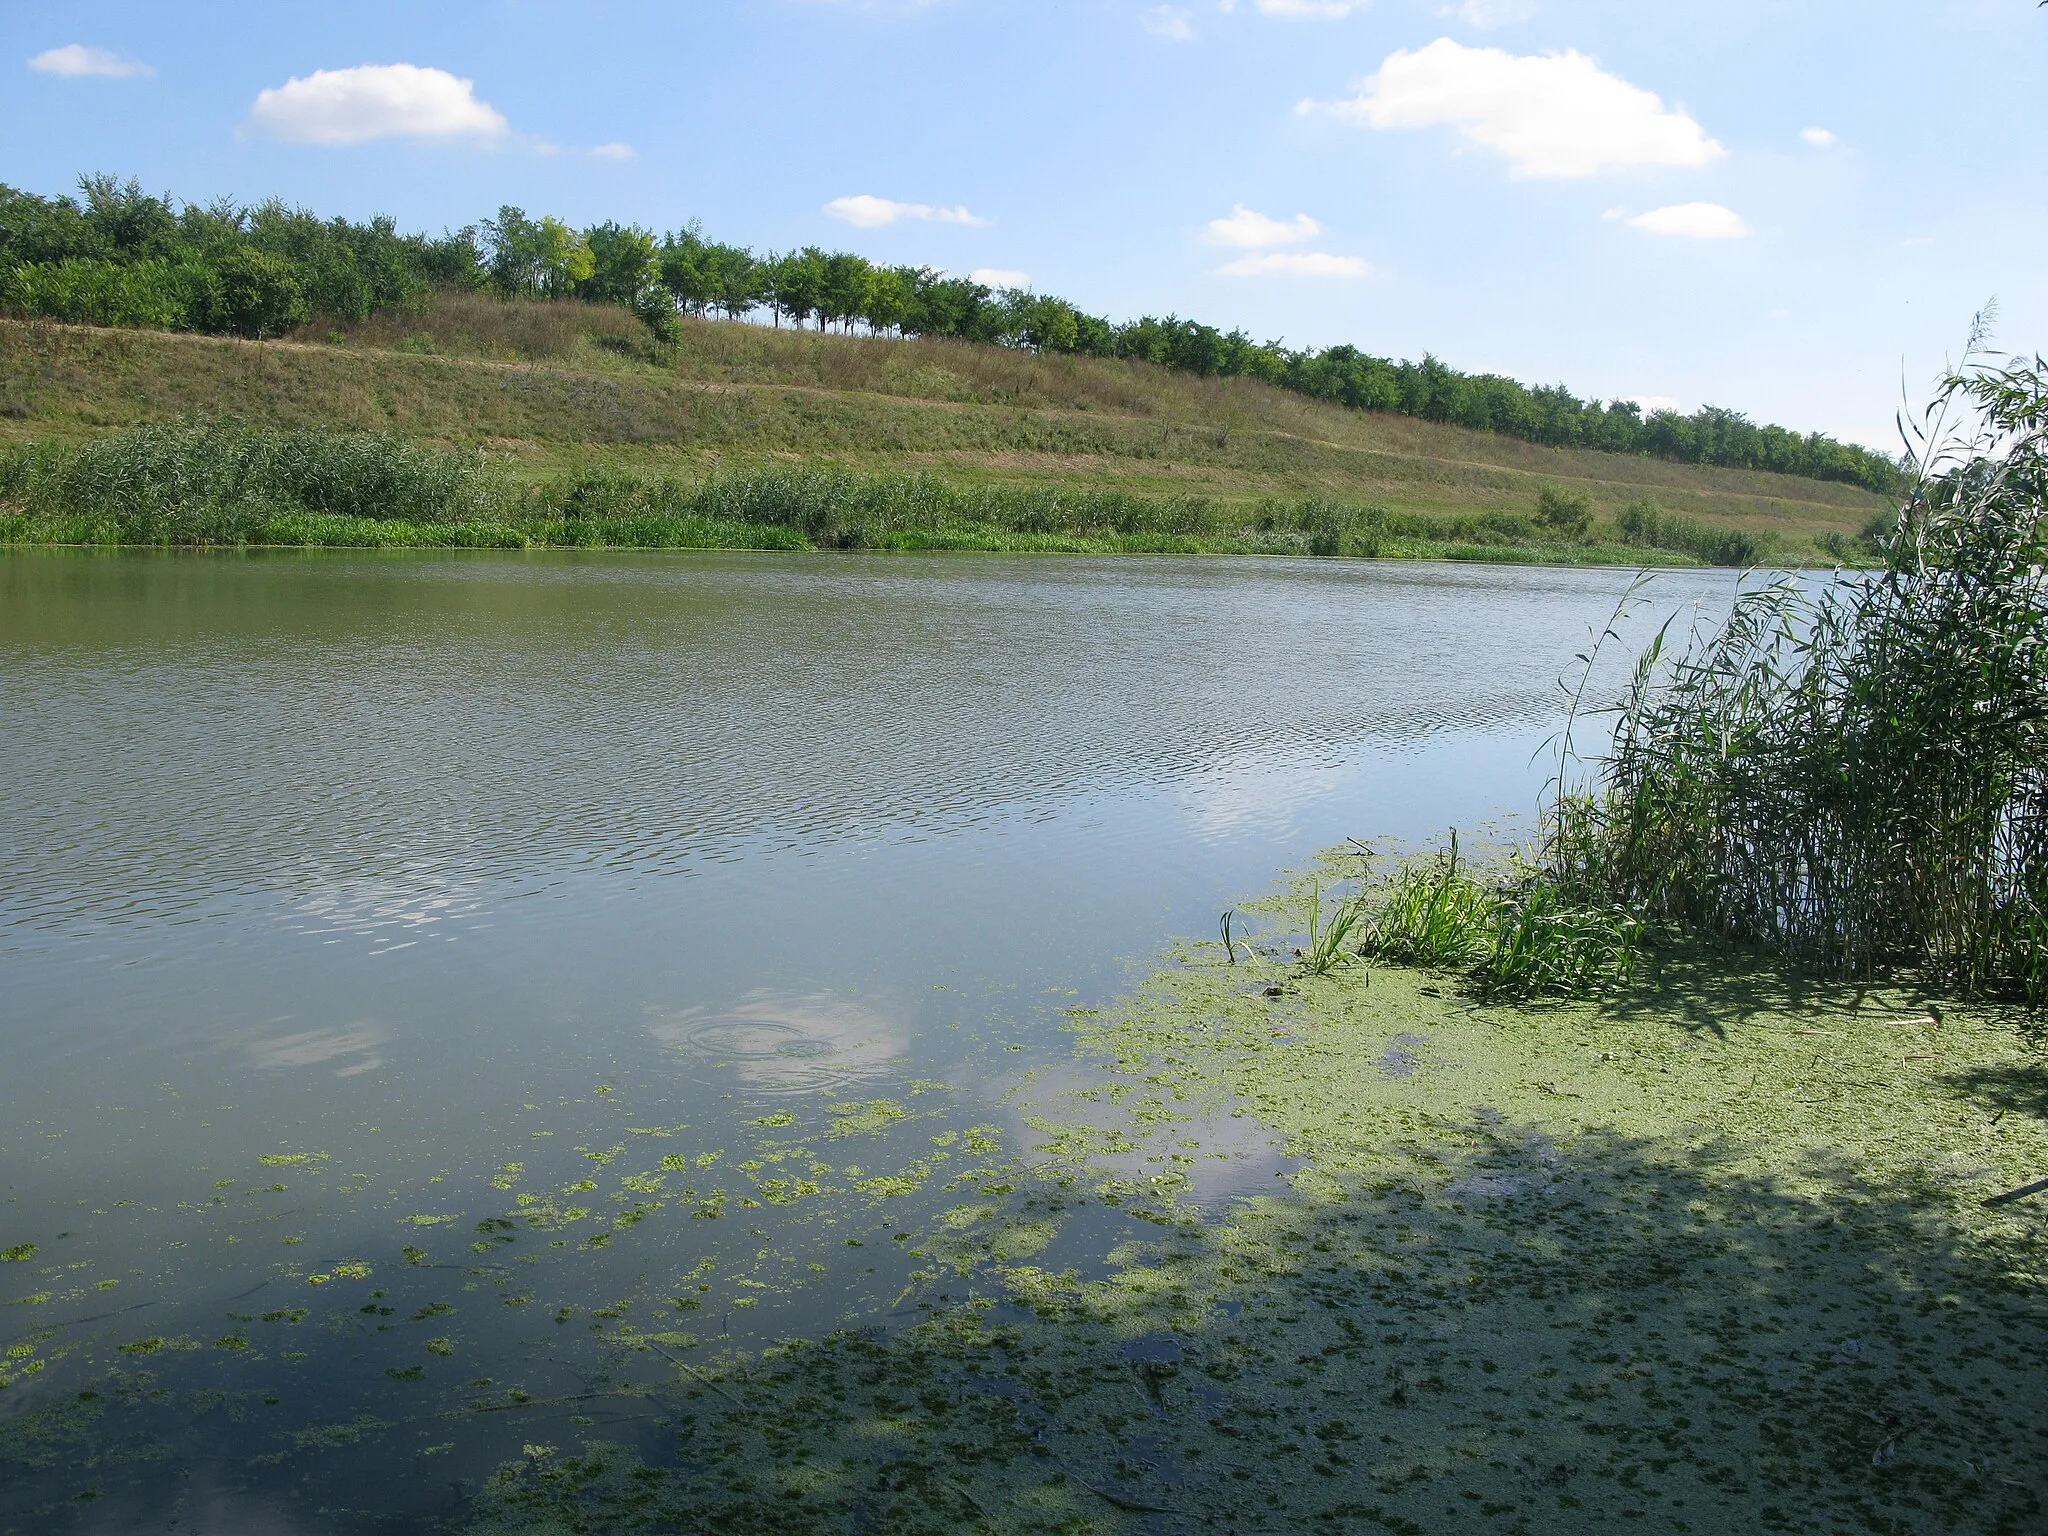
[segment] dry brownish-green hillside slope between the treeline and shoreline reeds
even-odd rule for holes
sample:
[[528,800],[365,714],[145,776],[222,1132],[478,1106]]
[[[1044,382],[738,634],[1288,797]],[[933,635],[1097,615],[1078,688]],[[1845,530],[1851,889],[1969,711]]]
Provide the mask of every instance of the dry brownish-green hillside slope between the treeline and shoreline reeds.
[[1229,504],[1313,496],[1507,528],[1548,485],[1585,494],[1595,528],[1655,498],[1708,528],[1776,537],[1786,557],[1841,551],[1886,512],[1841,483],[1544,449],[1249,379],[948,340],[692,319],[655,344],[623,309],[479,295],[281,342],[0,322],[0,440],[186,416],[375,428],[535,475],[829,465]]

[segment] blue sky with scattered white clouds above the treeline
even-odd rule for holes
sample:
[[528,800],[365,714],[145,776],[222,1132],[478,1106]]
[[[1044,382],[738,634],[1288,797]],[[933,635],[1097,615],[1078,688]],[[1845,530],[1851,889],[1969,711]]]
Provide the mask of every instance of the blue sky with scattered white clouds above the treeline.
[[2032,0],[0,0],[0,182],[700,221],[1896,451],[2048,350]]

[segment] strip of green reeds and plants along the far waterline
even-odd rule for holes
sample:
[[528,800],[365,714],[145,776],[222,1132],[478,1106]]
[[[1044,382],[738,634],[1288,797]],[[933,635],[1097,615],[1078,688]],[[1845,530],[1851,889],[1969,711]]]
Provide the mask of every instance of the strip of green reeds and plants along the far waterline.
[[[655,289],[666,293],[666,289]],[[496,307],[496,301],[475,303]],[[674,324],[655,309],[649,324]],[[621,350],[627,334],[606,338]],[[397,342],[434,350],[432,338]],[[639,354],[651,348],[639,344]],[[6,510],[8,504],[18,510]],[[545,479],[375,432],[201,418],[80,446],[0,449],[0,539],[35,543],[475,543],[768,549],[1118,549],[1454,559],[1612,557],[1534,543],[1513,514],[1430,516],[1329,498],[1255,506],[938,475],[737,469],[707,479],[580,469]],[[1526,553],[1522,553],[1526,551]]]

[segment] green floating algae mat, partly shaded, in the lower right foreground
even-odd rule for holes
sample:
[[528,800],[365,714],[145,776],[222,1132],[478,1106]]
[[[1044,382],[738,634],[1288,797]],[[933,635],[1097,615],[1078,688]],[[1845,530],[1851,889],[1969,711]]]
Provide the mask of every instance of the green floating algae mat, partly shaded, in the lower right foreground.
[[[471,1530],[2040,1530],[2044,1212],[1982,1200],[2048,1167],[2048,1069],[1927,1001],[1194,946],[1075,1020],[1100,1075],[924,1239],[928,1321],[684,1362],[657,1436],[528,1446]],[[1214,1212],[1245,1122],[1294,1167]],[[1139,1235],[1044,1257],[1104,1208]]]

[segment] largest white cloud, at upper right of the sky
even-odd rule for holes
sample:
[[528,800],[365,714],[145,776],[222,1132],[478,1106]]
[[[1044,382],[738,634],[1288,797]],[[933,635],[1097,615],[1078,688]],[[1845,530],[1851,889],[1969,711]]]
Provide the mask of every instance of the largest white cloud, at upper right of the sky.
[[1726,154],[1686,113],[1573,49],[1516,55],[1440,37],[1389,53],[1360,96],[1329,111],[1370,129],[1456,127],[1507,156],[1518,176],[1704,166]]

